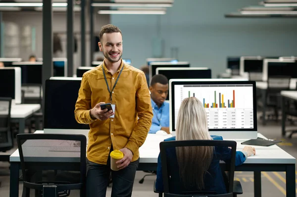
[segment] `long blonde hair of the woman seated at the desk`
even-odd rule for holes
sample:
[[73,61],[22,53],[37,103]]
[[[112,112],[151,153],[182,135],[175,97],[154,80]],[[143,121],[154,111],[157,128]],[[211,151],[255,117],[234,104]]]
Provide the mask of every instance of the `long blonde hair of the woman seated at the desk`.
[[[176,140],[211,140],[207,115],[202,103],[195,97],[183,100],[178,112]],[[186,189],[204,188],[203,178],[212,161],[213,147],[177,147],[180,178]]]

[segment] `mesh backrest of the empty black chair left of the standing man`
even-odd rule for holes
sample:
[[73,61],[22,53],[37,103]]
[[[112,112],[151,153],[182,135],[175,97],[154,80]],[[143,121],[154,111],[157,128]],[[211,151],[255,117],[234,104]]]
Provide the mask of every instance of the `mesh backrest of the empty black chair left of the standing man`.
[[[49,169],[57,163],[67,164],[69,167],[60,170],[80,171],[79,183],[69,184],[68,189],[81,190],[86,179],[86,147],[85,135],[70,134],[18,134],[17,146],[20,155],[23,180],[31,189],[40,190],[42,185],[32,183],[26,171]],[[66,160],[65,160],[66,159]],[[73,164],[75,163],[75,164]],[[59,165],[59,166],[60,166]],[[55,168],[59,169],[59,168]],[[63,186],[66,186],[64,184]],[[67,189],[67,187],[65,187]],[[75,188],[75,189],[74,189]],[[69,189],[70,190],[70,189]]]

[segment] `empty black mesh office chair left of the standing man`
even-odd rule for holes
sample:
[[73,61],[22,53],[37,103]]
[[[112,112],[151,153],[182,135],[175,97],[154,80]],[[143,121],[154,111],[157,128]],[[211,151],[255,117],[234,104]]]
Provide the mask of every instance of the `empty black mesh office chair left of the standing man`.
[[[23,173],[23,197],[84,197],[86,180],[86,146],[84,135],[18,134],[16,135]],[[62,162],[70,158],[74,163]],[[59,161],[60,160],[60,161]],[[43,170],[79,171],[73,180]],[[51,176],[51,177],[49,177]]]

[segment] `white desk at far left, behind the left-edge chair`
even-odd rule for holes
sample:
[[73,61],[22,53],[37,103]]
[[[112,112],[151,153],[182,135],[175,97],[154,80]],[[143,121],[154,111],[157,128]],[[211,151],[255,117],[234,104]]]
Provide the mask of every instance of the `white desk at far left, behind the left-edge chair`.
[[25,121],[30,118],[33,113],[40,110],[40,104],[15,104],[11,105],[10,117],[12,122],[19,123],[19,132],[24,133]]

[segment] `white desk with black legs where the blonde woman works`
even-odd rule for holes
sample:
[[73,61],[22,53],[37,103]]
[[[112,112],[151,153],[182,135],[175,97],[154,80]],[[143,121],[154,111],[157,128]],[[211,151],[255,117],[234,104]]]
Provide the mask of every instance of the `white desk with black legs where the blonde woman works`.
[[[36,133],[43,133],[37,131]],[[264,137],[258,134],[259,137]],[[156,134],[148,134],[146,142],[140,148],[140,163],[138,170],[156,170],[157,157],[159,155],[159,143],[171,135],[159,136]],[[242,150],[244,145],[242,141],[237,141],[238,150]],[[46,146],[35,144],[34,147]],[[256,156],[247,158],[245,163],[235,168],[236,171],[253,171],[254,172],[254,193],[255,197],[261,197],[261,171],[284,171],[286,172],[286,190],[287,197],[296,197],[295,192],[295,163],[296,159],[289,155],[276,145],[270,147],[256,148]],[[49,161],[49,158],[38,157],[38,148],[36,149],[35,161]],[[56,152],[56,158],[50,158],[51,163],[47,162],[46,169],[68,169],[74,170],[79,167],[79,157],[74,157],[75,153]],[[34,162],[32,162],[34,164]],[[221,165],[224,167],[224,164]],[[20,169],[20,158],[18,150],[10,156],[10,197],[18,197],[18,177]],[[44,168],[45,169],[45,168]]]

